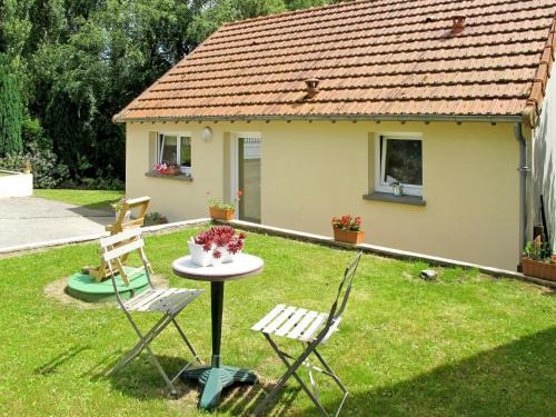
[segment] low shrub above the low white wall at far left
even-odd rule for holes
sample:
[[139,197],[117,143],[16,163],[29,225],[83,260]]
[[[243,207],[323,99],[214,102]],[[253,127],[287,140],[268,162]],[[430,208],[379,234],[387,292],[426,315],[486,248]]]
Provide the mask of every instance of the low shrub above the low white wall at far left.
[[69,177],[68,167],[57,163],[56,155],[50,150],[34,153],[9,153],[0,158],[0,168],[20,171],[26,161],[31,162],[34,188],[54,188]]

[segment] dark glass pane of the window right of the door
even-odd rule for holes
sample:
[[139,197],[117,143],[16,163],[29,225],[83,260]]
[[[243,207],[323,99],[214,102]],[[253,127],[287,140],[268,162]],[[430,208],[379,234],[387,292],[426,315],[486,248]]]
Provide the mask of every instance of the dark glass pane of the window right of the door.
[[[391,178],[403,183],[423,186],[423,152],[420,140],[387,139],[385,182]],[[388,177],[391,177],[390,179]]]

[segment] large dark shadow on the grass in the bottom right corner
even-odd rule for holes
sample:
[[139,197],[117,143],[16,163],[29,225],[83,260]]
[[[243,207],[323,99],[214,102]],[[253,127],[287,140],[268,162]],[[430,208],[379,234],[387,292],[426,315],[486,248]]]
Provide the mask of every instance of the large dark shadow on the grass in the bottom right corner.
[[[555,351],[553,327],[414,379],[354,393],[342,415],[554,416]],[[336,410],[340,399],[338,394],[325,408]],[[318,414],[311,407],[290,415]]]

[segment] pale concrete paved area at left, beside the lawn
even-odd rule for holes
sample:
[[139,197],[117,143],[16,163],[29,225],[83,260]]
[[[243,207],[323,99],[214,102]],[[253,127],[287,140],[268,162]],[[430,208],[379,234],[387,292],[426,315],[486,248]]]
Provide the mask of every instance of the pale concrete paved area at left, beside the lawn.
[[38,197],[0,199],[0,251],[98,235],[113,214]]

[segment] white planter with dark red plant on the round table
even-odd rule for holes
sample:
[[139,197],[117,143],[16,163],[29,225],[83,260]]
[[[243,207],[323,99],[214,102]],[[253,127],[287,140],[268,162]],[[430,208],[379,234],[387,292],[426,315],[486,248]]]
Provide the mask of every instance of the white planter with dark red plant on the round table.
[[246,235],[230,226],[216,226],[201,231],[188,240],[189,252],[193,264],[201,267],[232,262],[236,255],[241,254]]

